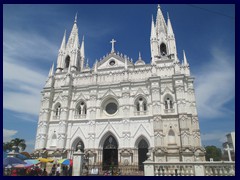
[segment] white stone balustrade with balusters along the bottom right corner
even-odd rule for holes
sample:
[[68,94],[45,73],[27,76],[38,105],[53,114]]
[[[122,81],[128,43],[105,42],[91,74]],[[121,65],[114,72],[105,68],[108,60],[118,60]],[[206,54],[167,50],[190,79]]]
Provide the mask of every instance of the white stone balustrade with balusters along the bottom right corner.
[[235,176],[235,162],[144,162],[145,176]]

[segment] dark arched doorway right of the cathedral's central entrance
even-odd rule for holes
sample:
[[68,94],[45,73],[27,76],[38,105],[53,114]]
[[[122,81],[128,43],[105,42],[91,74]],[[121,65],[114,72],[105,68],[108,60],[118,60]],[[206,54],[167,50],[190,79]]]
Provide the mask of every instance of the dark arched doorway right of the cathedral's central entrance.
[[138,143],[138,167],[140,171],[143,171],[143,162],[147,160],[147,153],[148,153],[148,144],[147,142],[142,139]]

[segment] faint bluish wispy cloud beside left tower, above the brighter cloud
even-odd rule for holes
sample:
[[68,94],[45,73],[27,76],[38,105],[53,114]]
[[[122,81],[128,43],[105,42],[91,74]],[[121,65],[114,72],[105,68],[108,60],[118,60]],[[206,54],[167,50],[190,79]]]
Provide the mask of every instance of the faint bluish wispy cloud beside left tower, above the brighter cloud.
[[8,29],[3,31],[4,57],[17,61],[31,61],[33,59],[50,61],[52,60],[50,57],[57,56],[58,48],[47,37],[37,33]]

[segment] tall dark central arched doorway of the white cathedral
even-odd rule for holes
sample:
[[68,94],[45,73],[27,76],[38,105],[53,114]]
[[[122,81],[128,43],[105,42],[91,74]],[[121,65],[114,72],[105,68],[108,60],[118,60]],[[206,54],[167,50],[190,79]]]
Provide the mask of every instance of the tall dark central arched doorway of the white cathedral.
[[103,144],[103,170],[107,170],[110,166],[118,165],[118,144],[116,139],[110,135]]

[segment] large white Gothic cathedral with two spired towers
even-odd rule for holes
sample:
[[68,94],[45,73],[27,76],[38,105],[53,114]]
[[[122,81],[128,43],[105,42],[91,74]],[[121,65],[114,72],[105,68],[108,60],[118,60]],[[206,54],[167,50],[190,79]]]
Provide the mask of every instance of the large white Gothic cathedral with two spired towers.
[[160,5],[151,24],[150,64],[140,53],[134,63],[116,52],[115,42],[90,68],[75,17],[42,91],[35,153],[72,158],[81,144],[94,165],[140,167],[147,153],[155,162],[205,160],[194,78],[185,53],[182,63],[178,59]]

